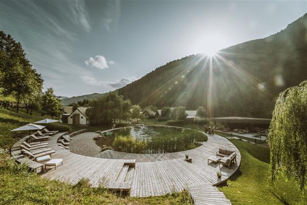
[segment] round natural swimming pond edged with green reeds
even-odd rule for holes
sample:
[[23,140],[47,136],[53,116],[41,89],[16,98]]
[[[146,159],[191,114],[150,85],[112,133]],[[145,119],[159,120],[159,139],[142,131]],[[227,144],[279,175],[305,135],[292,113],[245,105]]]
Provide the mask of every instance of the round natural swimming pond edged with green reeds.
[[112,133],[112,136],[96,140],[96,144],[121,152],[150,154],[190,150],[207,141],[207,136],[199,131],[178,127],[136,126],[116,129]]

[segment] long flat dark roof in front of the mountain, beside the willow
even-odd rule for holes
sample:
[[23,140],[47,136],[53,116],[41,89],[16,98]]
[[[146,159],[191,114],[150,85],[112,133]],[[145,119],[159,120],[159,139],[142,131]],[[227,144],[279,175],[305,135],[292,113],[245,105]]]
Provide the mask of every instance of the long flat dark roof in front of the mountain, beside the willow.
[[215,117],[212,119],[217,122],[250,123],[250,124],[270,124],[271,122],[271,119],[268,118],[253,118],[253,117]]

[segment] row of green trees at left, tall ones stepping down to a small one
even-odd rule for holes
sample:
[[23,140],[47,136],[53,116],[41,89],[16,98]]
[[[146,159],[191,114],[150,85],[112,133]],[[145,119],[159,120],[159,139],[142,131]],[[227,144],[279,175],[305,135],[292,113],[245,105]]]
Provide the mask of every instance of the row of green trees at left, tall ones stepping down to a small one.
[[56,116],[60,113],[60,99],[52,88],[42,92],[43,78],[26,57],[19,42],[10,34],[0,31],[0,95],[12,96],[23,102],[28,114],[40,110],[42,114]]

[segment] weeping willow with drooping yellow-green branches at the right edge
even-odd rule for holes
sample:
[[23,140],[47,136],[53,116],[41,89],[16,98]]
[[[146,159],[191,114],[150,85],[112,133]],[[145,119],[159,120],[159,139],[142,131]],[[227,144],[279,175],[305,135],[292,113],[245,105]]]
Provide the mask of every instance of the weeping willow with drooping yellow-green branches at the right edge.
[[307,80],[280,93],[268,135],[271,179],[294,177],[301,190],[307,185]]

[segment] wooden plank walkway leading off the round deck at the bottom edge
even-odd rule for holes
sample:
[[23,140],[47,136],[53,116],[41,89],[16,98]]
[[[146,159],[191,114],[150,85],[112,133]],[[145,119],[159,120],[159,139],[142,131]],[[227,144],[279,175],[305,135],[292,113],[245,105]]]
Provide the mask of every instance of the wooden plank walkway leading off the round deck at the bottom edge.
[[188,187],[186,190],[191,194],[194,204],[196,205],[231,204],[230,200],[225,197],[223,192],[218,191],[218,189],[213,187],[210,183]]

